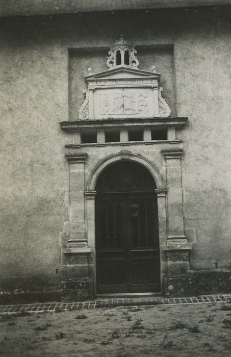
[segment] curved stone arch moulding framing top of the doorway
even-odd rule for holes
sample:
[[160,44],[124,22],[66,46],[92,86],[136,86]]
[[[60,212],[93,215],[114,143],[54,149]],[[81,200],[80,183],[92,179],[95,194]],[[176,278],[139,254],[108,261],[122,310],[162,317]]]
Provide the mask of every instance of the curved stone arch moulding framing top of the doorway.
[[143,157],[142,155],[132,154],[131,152],[120,152],[115,155],[110,155],[104,160],[100,160],[100,162],[95,165],[94,169],[91,172],[90,179],[87,183],[87,191],[94,191],[97,179],[101,172],[108,165],[112,165],[120,160],[132,161],[142,165],[152,175],[153,179],[156,182],[157,188],[165,188],[163,177],[155,164],[153,164],[150,160]]

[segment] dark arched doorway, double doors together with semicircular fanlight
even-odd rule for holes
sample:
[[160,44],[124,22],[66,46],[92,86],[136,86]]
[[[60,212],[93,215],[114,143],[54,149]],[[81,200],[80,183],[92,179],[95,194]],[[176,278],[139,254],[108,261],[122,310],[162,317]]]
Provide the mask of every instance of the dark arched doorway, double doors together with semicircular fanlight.
[[97,293],[159,292],[156,184],[140,164],[104,169],[95,190]]

